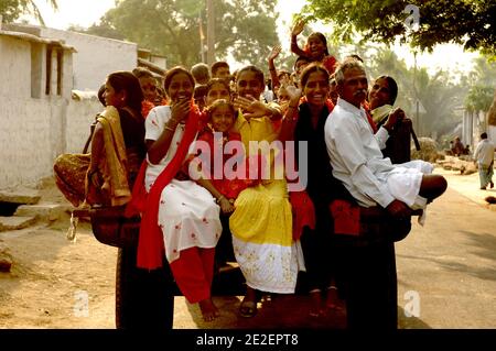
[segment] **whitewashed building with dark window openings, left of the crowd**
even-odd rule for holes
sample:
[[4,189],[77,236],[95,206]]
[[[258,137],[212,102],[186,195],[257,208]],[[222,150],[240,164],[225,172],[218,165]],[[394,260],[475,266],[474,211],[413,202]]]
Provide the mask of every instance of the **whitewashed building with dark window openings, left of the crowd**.
[[96,91],[137,65],[134,43],[0,21],[0,190],[36,184],[57,155],[82,152],[103,108]]

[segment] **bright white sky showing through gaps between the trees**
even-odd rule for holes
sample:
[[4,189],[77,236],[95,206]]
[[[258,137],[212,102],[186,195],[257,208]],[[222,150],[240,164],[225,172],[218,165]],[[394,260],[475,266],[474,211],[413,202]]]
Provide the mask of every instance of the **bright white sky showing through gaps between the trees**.
[[[57,0],[58,11],[53,11],[46,0],[34,0],[40,8],[46,26],[65,30],[71,25],[88,28],[105,14],[105,12],[115,7],[115,0]],[[291,31],[291,17],[296,13],[305,3],[305,0],[278,0],[276,9],[280,12],[279,17],[279,36],[288,39]],[[25,18],[32,24],[39,24],[34,19]],[[311,24],[315,31],[325,32],[322,24]],[[289,39],[281,40],[282,50],[289,52]],[[397,45],[392,47],[397,55],[405,59],[407,66],[414,64],[413,54],[407,45]],[[467,72],[472,68],[472,59],[477,56],[476,53],[464,53],[460,45],[439,45],[432,54],[417,55],[417,65],[428,67],[430,73],[439,68],[448,67],[461,72]]]

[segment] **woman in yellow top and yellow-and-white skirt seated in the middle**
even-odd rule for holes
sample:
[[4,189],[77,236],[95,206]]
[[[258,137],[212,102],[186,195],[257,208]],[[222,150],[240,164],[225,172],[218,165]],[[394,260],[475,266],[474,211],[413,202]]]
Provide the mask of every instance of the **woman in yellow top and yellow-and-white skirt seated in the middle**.
[[[242,317],[257,312],[257,290],[292,294],[302,262],[292,238],[291,205],[283,165],[274,162],[282,152],[278,133],[281,112],[278,105],[260,101],[263,73],[255,66],[240,69],[236,79],[239,109],[235,130],[241,134],[246,154],[257,153],[269,161],[270,172],[262,182],[242,190],[229,219],[236,260],[245,275],[247,293],[240,306]],[[269,147],[260,146],[260,142]]]

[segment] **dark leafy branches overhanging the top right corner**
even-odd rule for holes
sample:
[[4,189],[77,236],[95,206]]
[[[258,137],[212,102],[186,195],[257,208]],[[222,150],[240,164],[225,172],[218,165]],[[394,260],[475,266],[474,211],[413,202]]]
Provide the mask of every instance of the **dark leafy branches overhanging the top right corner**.
[[334,23],[335,41],[359,33],[384,43],[399,37],[422,51],[455,43],[496,56],[494,13],[493,0],[308,0],[301,15]]

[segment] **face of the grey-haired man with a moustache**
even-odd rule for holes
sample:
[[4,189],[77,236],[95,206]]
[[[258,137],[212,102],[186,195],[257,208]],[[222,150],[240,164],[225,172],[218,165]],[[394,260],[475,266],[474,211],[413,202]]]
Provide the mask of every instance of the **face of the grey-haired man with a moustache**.
[[344,80],[337,89],[343,100],[360,108],[367,97],[367,76],[365,70],[358,67],[348,68],[343,73]]

